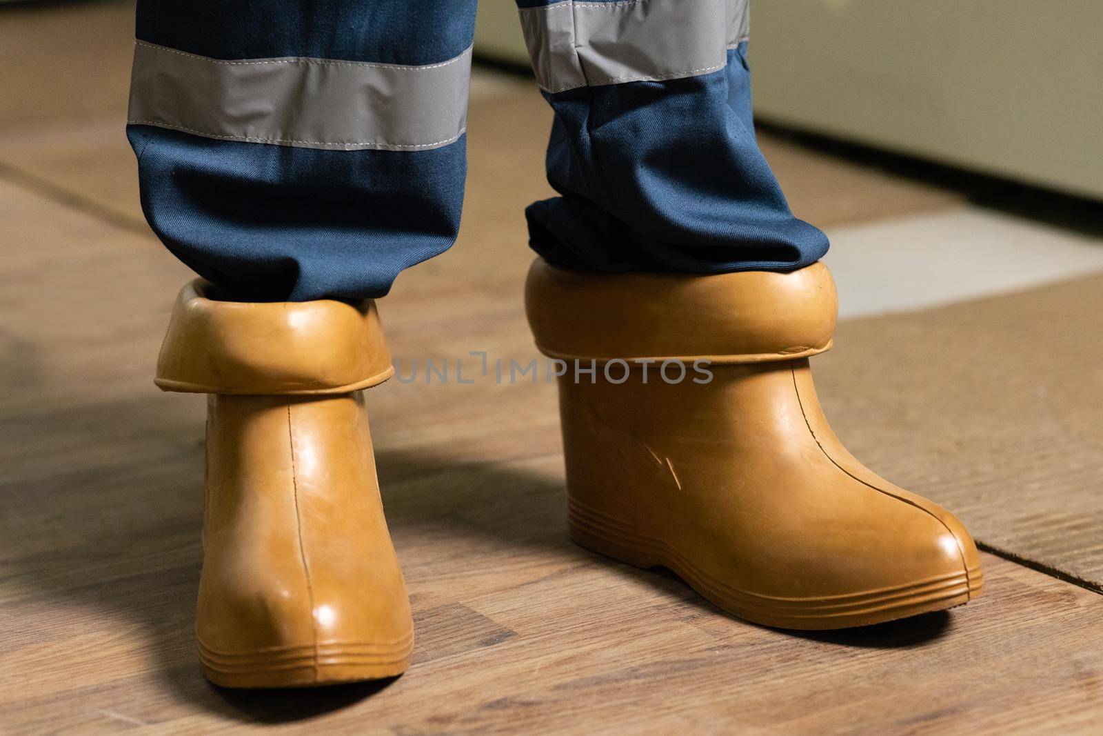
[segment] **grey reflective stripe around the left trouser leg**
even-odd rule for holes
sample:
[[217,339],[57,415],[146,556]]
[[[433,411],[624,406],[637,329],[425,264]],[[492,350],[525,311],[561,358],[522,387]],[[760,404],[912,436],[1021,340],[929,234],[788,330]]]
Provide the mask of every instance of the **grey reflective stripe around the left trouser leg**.
[[257,143],[439,148],[463,135],[471,50],[440,64],[223,61],[138,41],[128,121]]

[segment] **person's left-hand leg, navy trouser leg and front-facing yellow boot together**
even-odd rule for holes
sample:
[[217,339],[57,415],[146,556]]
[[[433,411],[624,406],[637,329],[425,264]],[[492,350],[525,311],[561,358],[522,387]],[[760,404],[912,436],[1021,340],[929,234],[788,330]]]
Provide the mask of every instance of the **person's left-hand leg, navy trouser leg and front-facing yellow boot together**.
[[474,0],[139,0],[142,205],[211,281],[181,292],[157,383],[211,395],[195,633],[217,684],[409,664],[370,297],[456,236],[473,21]]

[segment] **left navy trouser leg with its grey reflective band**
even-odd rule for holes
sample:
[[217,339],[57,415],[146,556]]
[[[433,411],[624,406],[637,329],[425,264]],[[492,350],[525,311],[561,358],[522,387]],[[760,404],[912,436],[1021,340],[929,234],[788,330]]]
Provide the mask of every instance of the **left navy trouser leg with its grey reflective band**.
[[454,241],[474,0],[139,0],[142,207],[237,300],[365,298]]

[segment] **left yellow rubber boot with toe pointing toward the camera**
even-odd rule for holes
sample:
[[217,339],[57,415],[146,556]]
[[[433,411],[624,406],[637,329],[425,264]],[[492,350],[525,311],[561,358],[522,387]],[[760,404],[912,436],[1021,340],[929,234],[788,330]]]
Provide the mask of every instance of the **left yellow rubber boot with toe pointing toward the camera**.
[[321,685],[409,665],[362,391],[393,372],[372,301],[181,292],[157,384],[210,394],[195,632],[212,682]]

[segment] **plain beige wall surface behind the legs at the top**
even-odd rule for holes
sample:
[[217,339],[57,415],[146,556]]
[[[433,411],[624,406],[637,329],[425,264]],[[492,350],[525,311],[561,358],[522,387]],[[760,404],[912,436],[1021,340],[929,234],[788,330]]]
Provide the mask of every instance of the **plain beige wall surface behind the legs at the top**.
[[[516,14],[476,49],[527,63]],[[1103,198],[1103,0],[759,0],[750,61],[761,117]]]

